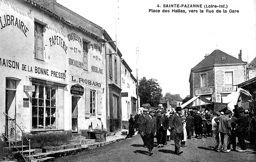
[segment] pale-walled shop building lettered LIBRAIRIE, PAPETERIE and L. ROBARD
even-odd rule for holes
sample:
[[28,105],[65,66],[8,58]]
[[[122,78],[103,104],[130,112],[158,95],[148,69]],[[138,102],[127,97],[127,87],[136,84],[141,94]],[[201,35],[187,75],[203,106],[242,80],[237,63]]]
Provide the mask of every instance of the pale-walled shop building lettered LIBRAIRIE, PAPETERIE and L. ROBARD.
[[103,29],[55,0],[0,0],[0,10],[0,133],[13,133],[3,113],[29,134],[107,129]]

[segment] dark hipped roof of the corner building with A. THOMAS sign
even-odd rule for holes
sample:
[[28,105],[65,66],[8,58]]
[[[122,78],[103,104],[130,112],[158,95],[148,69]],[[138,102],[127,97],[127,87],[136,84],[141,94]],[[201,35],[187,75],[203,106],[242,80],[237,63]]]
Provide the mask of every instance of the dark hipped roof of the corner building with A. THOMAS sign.
[[[225,57],[225,59],[222,59],[223,57]],[[236,57],[228,55],[225,52],[222,52],[219,49],[215,49],[210,55],[206,56],[204,60],[198,63],[194,68],[199,68],[207,65],[228,64],[228,63],[244,63],[244,62],[242,60],[237,59]]]

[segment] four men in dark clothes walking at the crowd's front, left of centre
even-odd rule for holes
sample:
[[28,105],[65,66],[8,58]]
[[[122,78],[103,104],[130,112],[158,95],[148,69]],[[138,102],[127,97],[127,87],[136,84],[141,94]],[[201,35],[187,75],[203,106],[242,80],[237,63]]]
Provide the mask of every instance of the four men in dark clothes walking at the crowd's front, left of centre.
[[[148,113],[147,113],[148,112]],[[175,154],[180,155],[183,151],[180,151],[180,140],[184,139],[183,132],[183,123],[180,117],[181,107],[176,107],[176,112],[169,119],[165,116],[165,111],[160,111],[158,117],[154,117],[154,109],[143,109],[143,114],[140,115],[139,122],[139,131],[143,145],[145,148],[148,148],[149,155],[152,155],[152,149],[154,147],[154,136],[157,135],[157,144],[158,147],[164,147],[166,143],[166,134],[167,129],[170,127],[171,140],[174,140],[175,143]]]

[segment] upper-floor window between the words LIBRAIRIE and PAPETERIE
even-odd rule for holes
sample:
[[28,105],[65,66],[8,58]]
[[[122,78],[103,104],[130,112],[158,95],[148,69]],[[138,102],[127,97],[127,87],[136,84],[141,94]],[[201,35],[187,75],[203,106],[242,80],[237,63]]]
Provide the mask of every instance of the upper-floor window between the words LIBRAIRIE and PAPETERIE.
[[34,54],[35,58],[38,60],[44,60],[44,26],[35,22],[35,45],[34,45]]

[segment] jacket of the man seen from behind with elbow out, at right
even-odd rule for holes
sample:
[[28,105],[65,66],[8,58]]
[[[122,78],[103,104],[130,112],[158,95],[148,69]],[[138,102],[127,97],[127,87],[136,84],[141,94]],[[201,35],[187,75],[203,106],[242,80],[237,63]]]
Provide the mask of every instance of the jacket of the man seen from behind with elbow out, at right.
[[230,119],[228,115],[220,115],[214,119],[218,127],[218,131],[225,133],[227,135],[231,135],[231,124],[230,124]]

